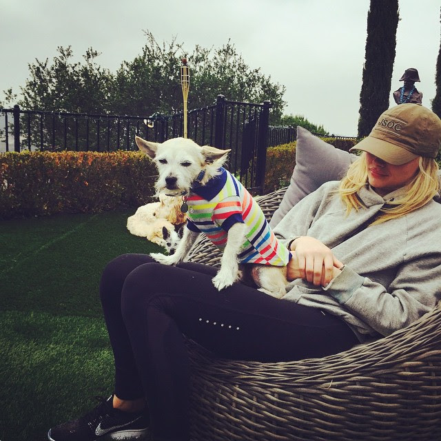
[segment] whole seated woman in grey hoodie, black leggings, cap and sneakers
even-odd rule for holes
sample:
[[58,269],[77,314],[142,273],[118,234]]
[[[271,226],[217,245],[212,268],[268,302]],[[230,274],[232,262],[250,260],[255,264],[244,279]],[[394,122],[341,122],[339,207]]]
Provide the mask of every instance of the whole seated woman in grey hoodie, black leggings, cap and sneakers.
[[[384,112],[339,182],[278,224],[293,257],[278,300],[213,287],[216,269],[128,254],[107,265],[100,294],[114,352],[110,398],[49,431],[52,441],[188,441],[189,360],[182,334],[218,356],[316,358],[409,325],[441,298],[441,121],[425,107]],[[227,435],[226,435],[227,436]]]

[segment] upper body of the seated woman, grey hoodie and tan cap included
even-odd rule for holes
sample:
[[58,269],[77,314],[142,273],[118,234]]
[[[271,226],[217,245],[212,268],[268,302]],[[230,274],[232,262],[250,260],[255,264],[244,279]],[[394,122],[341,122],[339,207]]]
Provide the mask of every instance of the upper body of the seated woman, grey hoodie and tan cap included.
[[399,105],[380,116],[353,147],[363,153],[345,178],[322,185],[276,227],[294,251],[286,300],[342,318],[360,341],[435,307],[440,141],[440,119],[426,107]]

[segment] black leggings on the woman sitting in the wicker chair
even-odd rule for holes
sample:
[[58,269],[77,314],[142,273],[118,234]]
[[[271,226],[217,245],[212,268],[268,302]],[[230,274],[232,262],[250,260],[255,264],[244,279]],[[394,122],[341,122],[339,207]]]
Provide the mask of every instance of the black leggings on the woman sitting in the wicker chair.
[[216,269],[167,267],[143,254],[107,265],[100,294],[115,360],[115,393],[146,397],[155,441],[189,439],[189,360],[183,334],[224,358],[316,358],[358,342],[318,309],[234,284],[217,291]]

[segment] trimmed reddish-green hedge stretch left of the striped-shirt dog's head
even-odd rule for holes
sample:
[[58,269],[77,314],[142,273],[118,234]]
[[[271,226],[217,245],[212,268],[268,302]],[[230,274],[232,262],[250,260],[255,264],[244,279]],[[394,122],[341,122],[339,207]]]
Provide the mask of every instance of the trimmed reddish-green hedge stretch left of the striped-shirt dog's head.
[[0,219],[95,213],[151,201],[156,167],[141,152],[0,155]]

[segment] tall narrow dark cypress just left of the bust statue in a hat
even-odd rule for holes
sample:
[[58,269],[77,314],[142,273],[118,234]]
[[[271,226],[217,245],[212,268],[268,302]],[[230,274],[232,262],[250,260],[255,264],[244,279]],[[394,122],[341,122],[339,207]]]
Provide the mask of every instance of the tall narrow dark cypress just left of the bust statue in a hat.
[[398,20],[398,0],[371,0],[360,92],[359,137],[367,136],[380,114],[389,107]]

